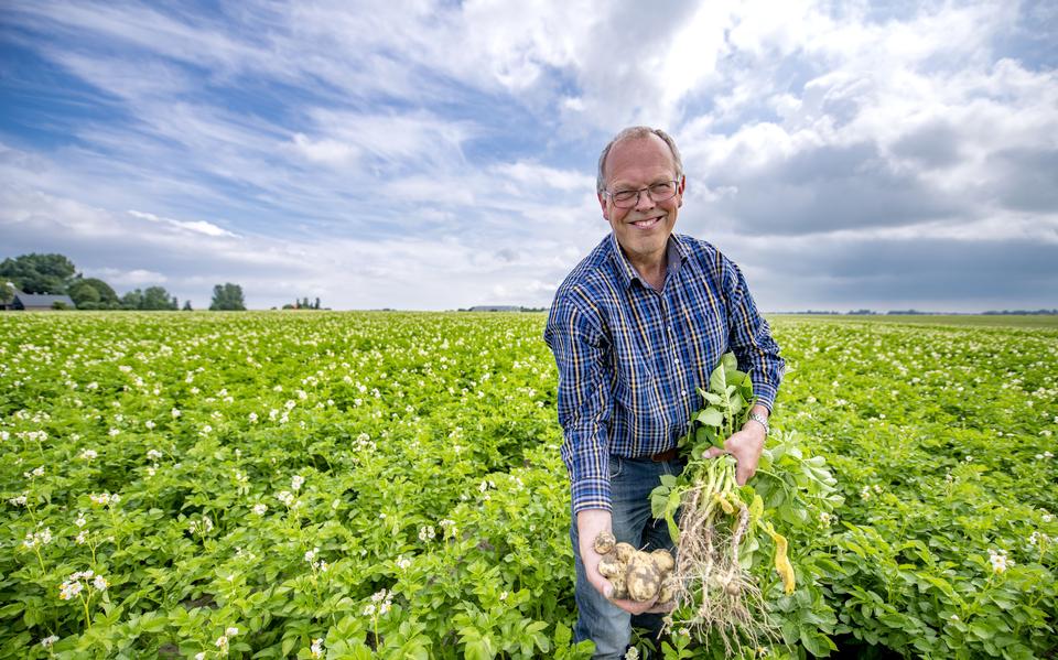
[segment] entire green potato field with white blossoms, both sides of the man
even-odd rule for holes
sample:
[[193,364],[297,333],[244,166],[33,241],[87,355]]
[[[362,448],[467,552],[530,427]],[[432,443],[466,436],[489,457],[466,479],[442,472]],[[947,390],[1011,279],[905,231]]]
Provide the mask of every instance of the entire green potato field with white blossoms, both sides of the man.
[[[1055,658],[1058,327],[887,321],[771,318],[834,485],[731,656]],[[589,658],[543,324],[0,314],[0,657]]]

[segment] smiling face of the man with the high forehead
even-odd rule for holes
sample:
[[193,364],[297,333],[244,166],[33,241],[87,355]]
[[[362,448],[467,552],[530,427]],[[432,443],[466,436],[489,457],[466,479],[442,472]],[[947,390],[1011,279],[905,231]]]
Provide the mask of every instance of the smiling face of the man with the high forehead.
[[[676,164],[669,145],[651,134],[614,144],[606,158],[604,176],[611,193],[635,191],[673,181]],[[603,217],[609,221],[617,242],[634,264],[663,262],[669,236],[683,205],[683,183],[681,178],[676,196],[663,202],[652,201],[644,191],[631,208],[617,208],[608,195],[598,195]]]

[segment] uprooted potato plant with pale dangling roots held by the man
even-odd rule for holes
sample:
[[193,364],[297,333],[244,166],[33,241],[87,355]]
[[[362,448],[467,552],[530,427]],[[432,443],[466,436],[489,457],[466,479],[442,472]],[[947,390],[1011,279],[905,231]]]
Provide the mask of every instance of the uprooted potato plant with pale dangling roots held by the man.
[[[760,587],[769,582],[765,566],[774,567],[787,596],[795,592],[797,575],[789,542],[776,526],[829,516],[842,498],[823,459],[806,459],[792,434],[780,435],[762,455],[753,486],[737,485],[731,456],[705,456],[742,429],[753,407],[753,385],[748,374],[738,370],[734,354],[723,356],[709,389],[699,393],[705,405],[680,442],[687,467],[679,477],[662,477],[650,504],[677,547],[677,610],[667,627],[687,630],[706,647],[712,643],[732,654],[780,639],[768,594]],[[787,461],[776,463],[777,453]],[[773,545],[770,561],[758,543],[764,535]]]

